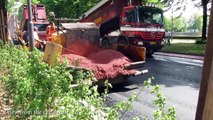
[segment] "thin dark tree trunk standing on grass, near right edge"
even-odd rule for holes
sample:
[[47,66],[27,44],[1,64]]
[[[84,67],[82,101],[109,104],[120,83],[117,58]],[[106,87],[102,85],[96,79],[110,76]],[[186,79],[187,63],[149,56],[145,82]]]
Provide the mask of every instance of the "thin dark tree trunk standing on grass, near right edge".
[[203,4],[203,28],[202,28],[202,40],[206,40],[206,27],[207,27],[207,3]]

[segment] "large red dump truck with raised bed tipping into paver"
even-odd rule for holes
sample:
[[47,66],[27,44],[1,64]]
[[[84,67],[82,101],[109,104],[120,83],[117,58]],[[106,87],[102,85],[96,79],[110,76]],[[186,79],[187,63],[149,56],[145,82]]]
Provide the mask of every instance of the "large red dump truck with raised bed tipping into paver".
[[99,26],[102,47],[113,43],[141,46],[153,54],[163,46],[163,11],[142,6],[140,0],[102,0],[80,19]]

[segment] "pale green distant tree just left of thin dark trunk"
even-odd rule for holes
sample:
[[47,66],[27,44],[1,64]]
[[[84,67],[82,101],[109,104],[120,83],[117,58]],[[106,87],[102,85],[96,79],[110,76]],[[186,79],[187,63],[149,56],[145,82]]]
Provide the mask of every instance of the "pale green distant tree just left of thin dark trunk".
[[195,13],[189,20],[188,30],[200,32],[202,30],[202,16]]

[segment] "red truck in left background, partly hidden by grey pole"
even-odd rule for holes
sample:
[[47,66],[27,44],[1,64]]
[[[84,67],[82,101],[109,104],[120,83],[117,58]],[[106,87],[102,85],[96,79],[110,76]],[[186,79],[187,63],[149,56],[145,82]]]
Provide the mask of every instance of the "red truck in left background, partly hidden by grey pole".
[[[46,40],[46,27],[49,25],[49,21],[46,16],[45,5],[36,4],[32,5],[32,20],[34,27],[38,28],[38,35],[40,40]],[[20,30],[27,30],[28,23],[28,9],[27,5],[24,6],[22,20],[20,23]]]

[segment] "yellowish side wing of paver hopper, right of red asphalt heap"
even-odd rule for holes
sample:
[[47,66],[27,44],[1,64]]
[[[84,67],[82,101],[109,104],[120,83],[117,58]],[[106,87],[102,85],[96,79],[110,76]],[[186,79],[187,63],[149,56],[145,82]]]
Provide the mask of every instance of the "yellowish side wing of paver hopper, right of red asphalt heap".
[[146,48],[145,47],[113,44],[112,48],[122,52],[127,57],[130,57],[133,59],[135,58],[140,61],[146,60]]

